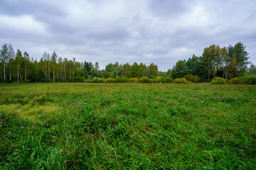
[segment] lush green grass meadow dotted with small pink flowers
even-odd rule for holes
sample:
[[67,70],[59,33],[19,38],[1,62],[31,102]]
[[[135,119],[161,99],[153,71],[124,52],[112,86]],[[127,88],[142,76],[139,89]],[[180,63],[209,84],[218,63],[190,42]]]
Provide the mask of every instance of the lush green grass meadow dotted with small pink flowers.
[[256,169],[256,86],[0,84],[0,169]]

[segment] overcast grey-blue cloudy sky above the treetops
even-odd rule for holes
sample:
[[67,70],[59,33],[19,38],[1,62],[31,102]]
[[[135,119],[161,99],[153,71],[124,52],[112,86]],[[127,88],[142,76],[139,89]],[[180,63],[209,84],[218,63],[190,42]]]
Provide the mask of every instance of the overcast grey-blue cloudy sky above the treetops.
[[256,0],[0,0],[0,45],[82,62],[157,64],[242,42],[256,64]]

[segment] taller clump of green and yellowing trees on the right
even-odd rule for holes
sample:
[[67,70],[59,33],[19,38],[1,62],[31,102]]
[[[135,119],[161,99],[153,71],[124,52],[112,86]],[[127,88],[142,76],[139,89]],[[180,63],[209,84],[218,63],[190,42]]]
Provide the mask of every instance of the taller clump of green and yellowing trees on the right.
[[250,64],[248,55],[242,42],[238,42],[234,47],[232,45],[228,47],[210,45],[203,50],[201,57],[193,55],[187,61],[179,60],[169,72],[174,78],[192,74],[203,80],[215,77],[232,79],[242,77],[246,72],[255,74],[254,64],[250,65],[250,69],[247,68],[247,64]]

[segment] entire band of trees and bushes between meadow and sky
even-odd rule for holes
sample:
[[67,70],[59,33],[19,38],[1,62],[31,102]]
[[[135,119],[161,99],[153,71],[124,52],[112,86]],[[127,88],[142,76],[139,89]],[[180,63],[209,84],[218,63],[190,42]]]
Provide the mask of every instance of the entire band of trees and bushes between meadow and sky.
[[[28,52],[4,44],[0,50],[0,82],[87,82],[87,83],[176,83],[211,82],[211,84],[256,84],[256,67],[249,62],[249,53],[242,42],[235,46],[210,45],[200,57],[178,60],[167,72],[156,64],[107,64],[100,69],[96,62],[77,62],[43,52],[34,60]],[[250,67],[248,65],[250,64]]]

